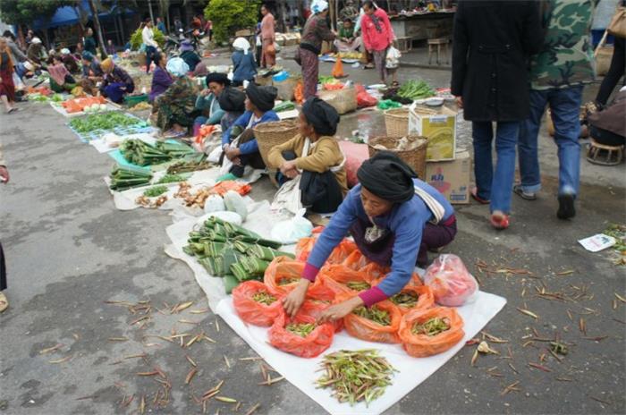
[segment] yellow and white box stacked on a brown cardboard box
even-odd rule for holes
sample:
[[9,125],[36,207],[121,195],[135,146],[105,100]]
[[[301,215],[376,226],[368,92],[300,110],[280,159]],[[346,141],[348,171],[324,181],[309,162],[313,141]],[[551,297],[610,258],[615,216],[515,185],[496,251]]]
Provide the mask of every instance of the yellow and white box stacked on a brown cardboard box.
[[417,133],[428,140],[427,161],[453,160],[456,152],[456,117],[458,113],[450,108],[427,108],[420,113],[419,108],[409,111],[409,133]]

